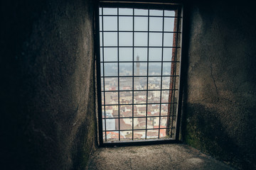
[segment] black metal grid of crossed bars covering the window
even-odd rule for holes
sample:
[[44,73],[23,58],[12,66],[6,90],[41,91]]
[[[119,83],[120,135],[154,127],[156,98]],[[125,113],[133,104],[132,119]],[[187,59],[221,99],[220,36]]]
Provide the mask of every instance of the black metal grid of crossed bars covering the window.
[[[124,13],[125,9],[128,9],[130,13]],[[146,11],[146,14],[138,15],[136,11],[139,10]],[[152,139],[174,140],[176,137],[178,83],[181,62],[181,8],[171,6],[171,9],[161,8],[154,10],[149,7],[142,9],[102,6],[99,11],[101,69],[101,102],[99,105],[102,107],[100,111],[100,127],[102,127],[100,141],[108,143]],[[154,11],[162,14],[154,14]],[[173,15],[165,15],[171,12]],[[125,17],[132,19],[132,30],[125,30],[124,26],[122,26],[122,19]],[[105,20],[111,21],[110,18],[117,20],[116,24],[114,24],[116,29],[114,26],[110,26],[111,23],[105,23]],[[146,30],[135,28],[138,24],[135,22],[137,18],[146,18]],[[152,29],[153,27],[150,25],[154,21],[152,18],[161,18],[160,30]],[[172,18],[173,30],[166,29],[165,21],[168,21],[168,18]],[[106,29],[105,27],[109,28]],[[114,29],[111,30],[110,28]],[[117,35],[117,43],[115,45],[105,45],[108,44],[109,40],[109,37],[105,36],[107,33]],[[125,33],[132,35],[132,43],[129,45],[124,42],[131,40],[130,37],[122,40],[122,34]],[[146,40],[146,45],[138,45],[137,40],[135,40],[137,39],[137,33],[146,35],[144,39]],[[151,39],[154,40],[152,35],[155,33],[161,36],[160,45],[154,43],[152,45]],[[172,40],[169,40],[167,36],[170,34],[172,35]],[[110,41],[112,38],[110,38]],[[166,43],[166,39],[169,42]],[[171,45],[169,45],[170,43]],[[124,60],[124,56],[127,55],[121,52],[123,49],[132,50],[130,54],[132,59]],[[140,51],[138,49],[146,50],[145,60],[138,60],[139,55],[135,53],[135,50],[137,52]],[[151,59],[151,54],[154,53],[152,52],[154,51],[153,49],[161,51],[160,60]],[[107,50],[112,50],[112,52],[107,52]],[[110,59],[114,55],[116,58]],[[136,56],[137,59],[135,59]],[[130,66],[125,67],[126,64]],[[141,75],[140,69],[142,65],[144,70]],[[151,72],[151,69],[156,66],[161,68],[159,74]],[[166,70],[169,70],[169,73],[164,72]],[[144,79],[144,88],[141,86],[142,79]],[[138,97],[139,94],[140,98]]]

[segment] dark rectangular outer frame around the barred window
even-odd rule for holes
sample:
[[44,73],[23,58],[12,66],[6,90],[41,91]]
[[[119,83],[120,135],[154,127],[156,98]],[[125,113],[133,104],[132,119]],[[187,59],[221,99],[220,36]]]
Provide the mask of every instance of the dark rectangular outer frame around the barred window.
[[[182,39],[183,39],[183,4],[177,3],[169,3],[166,1],[100,1],[98,4],[99,6],[95,7],[95,56],[96,56],[96,72],[97,72],[97,110],[98,110],[98,140],[100,147],[107,147],[107,146],[126,146],[126,145],[151,145],[151,144],[161,144],[161,143],[176,143],[179,142],[179,131],[180,131],[180,118],[181,118],[181,103],[182,103],[182,84],[181,81],[183,79],[181,75],[181,58],[182,58]],[[180,57],[180,70],[179,70],[179,82],[178,82],[178,98],[177,98],[177,106],[176,106],[176,128],[175,128],[175,139],[153,139],[153,140],[129,140],[129,141],[117,141],[117,142],[103,142],[103,135],[102,135],[102,87],[101,87],[101,72],[100,72],[100,24],[99,24],[99,8],[100,7],[110,7],[110,8],[151,8],[151,9],[176,9],[179,8],[179,15],[182,19],[178,19],[181,23],[178,23],[180,26],[179,30],[181,30],[181,37],[180,44],[181,44],[181,57]],[[166,8],[169,6],[169,8]],[[175,6],[175,7],[174,7]],[[164,31],[164,30],[163,30]],[[178,31],[177,31],[178,33]],[[176,36],[178,38],[178,36]],[[176,40],[177,41],[177,40]],[[177,43],[177,42],[176,42]],[[160,46],[163,47],[163,46]],[[163,62],[163,61],[162,61]],[[147,75],[148,77],[149,75]],[[162,76],[162,75],[161,75]],[[148,89],[147,89],[148,90]],[[133,103],[134,104],[134,103]],[[160,119],[161,117],[159,117]],[[159,129],[160,130],[160,129]]]

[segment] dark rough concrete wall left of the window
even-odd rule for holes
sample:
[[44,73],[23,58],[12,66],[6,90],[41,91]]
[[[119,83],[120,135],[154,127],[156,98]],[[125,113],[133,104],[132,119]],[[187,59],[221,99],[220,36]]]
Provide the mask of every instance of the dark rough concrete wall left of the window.
[[96,131],[92,13],[90,0],[1,1],[0,169],[86,166]]

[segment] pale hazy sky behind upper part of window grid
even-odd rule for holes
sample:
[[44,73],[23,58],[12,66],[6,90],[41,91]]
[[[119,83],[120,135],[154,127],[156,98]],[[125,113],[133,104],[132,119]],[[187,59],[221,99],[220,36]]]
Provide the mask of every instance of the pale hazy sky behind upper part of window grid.
[[[149,10],[150,16],[175,16],[174,11],[163,10]],[[117,8],[103,8],[104,15],[117,15]],[[133,30],[133,10],[132,8],[119,8],[119,30],[132,31]],[[102,8],[100,8],[100,15],[102,15]],[[134,33],[134,61],[139,55],[140,61],[147,60],[147,45],[148,45],[148,10],[134,9],[134,30],[145,31],[145,33]],[[136,16],[137,15],[137,16]],[[102,30],[102,16],[100,16],[100,30]],[[117,16],[104,16],[103,30],[117,31]],[[163,17],[149,17],[149,31],[163,31]],[[174,18],[164,17],[164,31],[174,31]],[[170,48],[173,46],[173,33],[164,33],[164,61],[171,61]],[[104,57],[105,62],[117,62],[117,32],[103,33]],[[149,33],[149,61],[161,61],[162,52],[162,33]],[[132,32],[119,33],[119,61],[132,62]],[[100,33],[100,46],[102,46],[102,33]],[[126,46],[126,47],[122,47]],[[157,47],[157,48],[153,48]],[[102,48],[101,48],[102,60]]]

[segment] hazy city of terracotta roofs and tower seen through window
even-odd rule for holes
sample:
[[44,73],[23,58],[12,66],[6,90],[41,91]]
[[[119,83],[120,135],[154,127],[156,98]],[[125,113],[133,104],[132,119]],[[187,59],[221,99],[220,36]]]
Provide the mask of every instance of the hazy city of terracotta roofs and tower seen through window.
[[[163,69],[163,72],[170,74],[171,62],[167,63],[169,71]],[[169,100],[173,77],[161,77],[161,63],[151,69],[151,77],[146,77],[144,64],[137,56],[134,73],[129,66],[120,67],[119,86],[116,63],[106,72],[104,82],[102,77],[102,128],[107,141],[119,140],[119,137],[120,140],[132,140],[132,131],[134,140],[166,138],[166,130],[175,127],[176,104],[171,102],[176,101]],[[132,74],[137,77],[132,78]],[[174,116],[168,116],[168,108],[173,108],[170,115]]]

